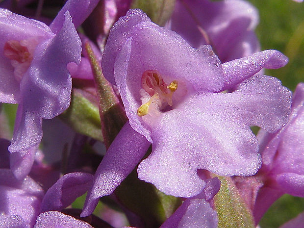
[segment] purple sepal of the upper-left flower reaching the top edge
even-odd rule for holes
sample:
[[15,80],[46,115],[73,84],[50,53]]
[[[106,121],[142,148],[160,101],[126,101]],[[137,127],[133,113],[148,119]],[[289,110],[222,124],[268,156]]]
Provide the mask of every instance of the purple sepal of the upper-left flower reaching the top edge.
[[51,23],[51,30],[57,33],[61,29],[66,11],[70,12],[73,24],[78,27],[92,13],[98,2],[99,0],[68,0]]

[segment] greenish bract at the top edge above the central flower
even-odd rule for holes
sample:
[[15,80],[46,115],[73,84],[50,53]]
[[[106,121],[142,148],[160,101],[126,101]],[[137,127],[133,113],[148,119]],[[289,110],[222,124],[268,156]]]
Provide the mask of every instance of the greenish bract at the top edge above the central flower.
[[131,8],[143,10],[152,22],[163,26],[174,10],[176,0],[133,0]]

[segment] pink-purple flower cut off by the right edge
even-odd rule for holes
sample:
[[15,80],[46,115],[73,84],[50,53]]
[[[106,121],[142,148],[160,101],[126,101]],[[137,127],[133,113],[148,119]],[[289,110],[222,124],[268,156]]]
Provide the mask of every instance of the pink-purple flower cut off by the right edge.
[[283,194],[304,197],[304,83],[293,95],[288,124],[273,134],[261,129],[257,136],[263,165],[256,178],[263,187],[253,209],[256,223]]

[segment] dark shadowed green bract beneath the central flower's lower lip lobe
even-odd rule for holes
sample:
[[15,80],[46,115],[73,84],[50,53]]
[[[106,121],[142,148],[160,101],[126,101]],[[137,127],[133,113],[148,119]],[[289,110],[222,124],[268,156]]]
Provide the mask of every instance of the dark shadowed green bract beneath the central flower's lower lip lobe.
[[181,200],[160,192],[137,177],[137,168],[117,187],[117,199],[140,216],[146,228],[159,227],[181,204]]

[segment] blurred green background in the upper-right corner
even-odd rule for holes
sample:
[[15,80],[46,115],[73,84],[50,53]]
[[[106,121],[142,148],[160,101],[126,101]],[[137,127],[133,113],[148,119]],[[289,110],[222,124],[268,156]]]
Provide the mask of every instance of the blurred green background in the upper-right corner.
[[261,49],[276,49],[289,58],[289,63],[266,74],[278,77],[294,91],[304,81],[304,2],[293,0],[250,0],[258,8],[260,23],[256,34]]

